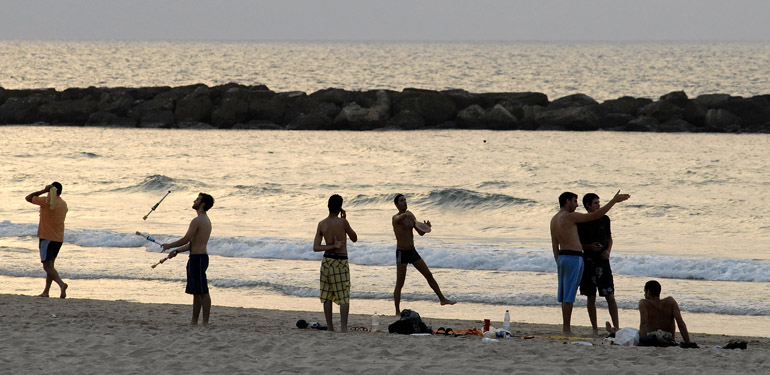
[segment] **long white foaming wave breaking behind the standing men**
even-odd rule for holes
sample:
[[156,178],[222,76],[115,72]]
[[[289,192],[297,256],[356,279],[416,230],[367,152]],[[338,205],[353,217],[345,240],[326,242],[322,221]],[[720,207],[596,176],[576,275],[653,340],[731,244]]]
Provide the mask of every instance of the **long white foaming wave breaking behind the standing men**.
[[[0,238],[35,236],[36,224],[0,222]],[[157,242],[176,238],[153,234]],[[178,237],[178,236],[177,236]],[[146,247],[159,251],[143,237],[100,229],[67,230],[65,242],[83,247]],[[360,265],[393,264],[390,243],[350,243],[350,262]],[[425,241],[420,255],[432,268],[555,273],[550,249],[513,248],[500,245],[444,244]],[[233,258],[317,260],[310,241],[272,237],[212,237],[209,253]],[[666,255],[624,255],[614,253],[616,275],[669,279],[770,282],[770,262],[756,259],[678,257]]]

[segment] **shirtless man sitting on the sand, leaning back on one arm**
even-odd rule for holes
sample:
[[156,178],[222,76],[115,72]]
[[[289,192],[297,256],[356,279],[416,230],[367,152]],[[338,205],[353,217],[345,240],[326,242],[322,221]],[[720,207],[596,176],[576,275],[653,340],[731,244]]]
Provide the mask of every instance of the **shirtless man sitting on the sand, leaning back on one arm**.
[[648,335],[656,330],[668,332],[671,334],[671,338],[676,340],[676,327],[678,326],[682,340],[689,345],[690,334],[687,332],[684,319],[682,319],[679,305],[674,297],[660,299],[660,289],[660,283],[655,280],[650,280],[644,284],[644,299],[639,300],[639,344],[651,343],[651,345],[655,345],[655,338]]

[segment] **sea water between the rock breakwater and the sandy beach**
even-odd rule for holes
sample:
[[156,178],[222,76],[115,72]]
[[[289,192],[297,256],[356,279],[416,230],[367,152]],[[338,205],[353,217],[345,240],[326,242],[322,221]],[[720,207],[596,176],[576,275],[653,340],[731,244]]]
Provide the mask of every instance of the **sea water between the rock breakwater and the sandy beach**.
[[[411,269],[402,307],[558,323],[548,229],[557,197],[607,202],[622,189],[631,199],[609,214],[622,325],[638,324],[654,278],[691,330],[770,335],[768,135],[5,126],[0,140],[0,292],[42,288],[37,207],[24,196],[57,180],[70,209],[57,267],[72,297],[189,302],[184,256],[152,269],[164,255],[135,232],[181,237],[207,192],[215,304],[320,311],[312,239],[326,200],[341,194],[359,237],[349,244],[352,311],[393,311],[390,219],[403,193],[433,224],[415,243],[458,305],[439,307]],[[575,324],[588,324],[585,298],[576,305]]]

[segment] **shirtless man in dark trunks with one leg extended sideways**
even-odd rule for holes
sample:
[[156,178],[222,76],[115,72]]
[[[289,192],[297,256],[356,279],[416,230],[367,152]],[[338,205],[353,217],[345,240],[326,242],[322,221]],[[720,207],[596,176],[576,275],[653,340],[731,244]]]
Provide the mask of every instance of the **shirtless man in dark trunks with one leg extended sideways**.
[[[425,232],[421,231],[415,224],[417,219],[410,211],[407,211],[406,197],[403,194],[398,194],[393,199],[393,203],[398,208],[398,214],[393,215],[393,232],[396,233],[396,289],[393,291],[393,300],[396,303],[396,316],[401,315],[401,288],[404,287],[404,280],[406,280],[406,267],[409,263],[414,265],[420,273],[428,281],[428,285],[438,296],[441,305],[454,305],[455,301],[447,299],[441,294],[441,289],[438,287],[436,279],[433,278],[433,274],[428,269],[428,265],[422,260],[420,254],[414,248],[414,233],[412,230],[416,230],[420,236],[425,235]],[[425,225],[431,226],[430,221],[424,221]]]

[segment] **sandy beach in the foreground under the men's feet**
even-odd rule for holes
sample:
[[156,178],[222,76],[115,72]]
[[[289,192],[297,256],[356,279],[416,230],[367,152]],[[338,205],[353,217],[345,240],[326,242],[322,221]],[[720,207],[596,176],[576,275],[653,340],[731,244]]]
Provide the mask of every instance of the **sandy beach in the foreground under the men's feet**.
[[[700,349],[602,345],[588,327],[579,340],[560,327],[512,323],[518,335],[484,343],[475,336],[406,336],[298,329],[323,322],[320,309],[279,311],[212,307],[208,327],[190,326],[190,306],[0,294],[0,373],[561,373],[735,374],[770,371],[770,339],[692,333]],[[338,317],[335,314],[335,319]],[[387,329],[392,316],[381,317]],[[433,327],[467,329],[481,321],[423,317]],[[369,316],[351,316],[368,326]],[[492,322],[493,325],[495,322]],[[498,322],[499,324],[499,322]],[[717,349],[731,339],[747,350]],[[591,345],[587,345],[590,343]]]

